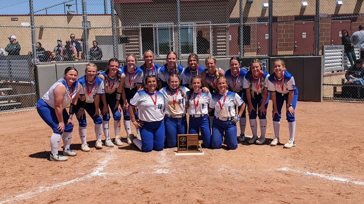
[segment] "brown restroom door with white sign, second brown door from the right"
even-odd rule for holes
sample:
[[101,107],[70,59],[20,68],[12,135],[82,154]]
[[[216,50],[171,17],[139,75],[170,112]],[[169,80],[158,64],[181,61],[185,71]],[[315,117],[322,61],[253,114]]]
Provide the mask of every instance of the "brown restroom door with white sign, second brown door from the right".
[[293,54],[314,54],[314,22],[293,24]]

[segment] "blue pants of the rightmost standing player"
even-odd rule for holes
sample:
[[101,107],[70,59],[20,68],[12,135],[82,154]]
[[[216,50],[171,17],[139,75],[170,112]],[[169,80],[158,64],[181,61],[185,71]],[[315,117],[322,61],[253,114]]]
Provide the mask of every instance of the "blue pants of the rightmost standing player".
[[[296,110],[297,98],[298,98],[298,90],[296,88],[293,91],[293,99],[292,99],[292,108],[294,110]],[[286,94],[284,94],[282,96],[281,93],[276,92],[277,110],[278,110],[279,115],[275,114],[274,115],[274,118],[273,118],[273,121],[279,122],[281,120],[281,116],[282,116],[281,111],[282,111],[282,106],[283,106],[284,101],[286,101],[286,106],[287,106],[287,103],[288,103],[288,93],[286,93]],[[286,111],[286,119],[287,119],[288,122],[294,122],[294,114],[291,115],[290,113],[288,113]]]

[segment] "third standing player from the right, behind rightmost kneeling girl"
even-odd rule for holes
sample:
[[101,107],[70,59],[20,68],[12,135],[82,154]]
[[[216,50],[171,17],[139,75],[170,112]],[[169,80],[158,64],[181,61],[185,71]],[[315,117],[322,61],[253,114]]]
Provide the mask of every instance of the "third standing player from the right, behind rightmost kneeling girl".
[[[240,68],[240,58],[232,57],[230,59],[230,69],[225,72],[225,77],[229,83],[229,91],[233,91],[240,95],[244,103],[247,104],[245,89],[243,88],[244,76],[246,74],[244,69]],[[245,106],[244,106],[245,107]],[[240,138],[238,142],[245,141],[245,127],[246,127],[246,109],[244,109],[241,115],[240,121]]]

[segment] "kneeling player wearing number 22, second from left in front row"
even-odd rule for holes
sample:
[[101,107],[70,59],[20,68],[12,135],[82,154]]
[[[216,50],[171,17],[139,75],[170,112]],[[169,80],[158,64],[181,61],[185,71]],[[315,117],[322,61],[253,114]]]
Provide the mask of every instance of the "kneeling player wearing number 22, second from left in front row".
[[179,86],[180,80],[177,74],[172,74],[168,79],[169,86],[162,89],[165,103],[165,131],[166,146],[176,146],[177,134],[187,134],[187,118],[185,93],[189,89]]

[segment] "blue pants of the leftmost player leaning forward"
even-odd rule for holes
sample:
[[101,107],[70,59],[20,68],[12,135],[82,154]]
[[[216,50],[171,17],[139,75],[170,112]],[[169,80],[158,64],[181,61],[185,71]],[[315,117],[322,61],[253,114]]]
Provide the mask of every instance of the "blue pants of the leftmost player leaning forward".
[[[44,122],[47,123],[48,126],[50,126],[53,130],[53,133],[61,135],[62,133],[57,130],[58,127],[58,119],[56,115],[56,110],[49,106],[46,102],[43,101],[43,99],[39,99],[37,103],[37,111],[41,119],[43,119]],[[62,110],[62,117],[64,122],[64,132],[72,132],[73,127],[71,124],[67,125],[68,122],[68,113],[66,109]]]

